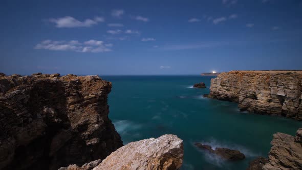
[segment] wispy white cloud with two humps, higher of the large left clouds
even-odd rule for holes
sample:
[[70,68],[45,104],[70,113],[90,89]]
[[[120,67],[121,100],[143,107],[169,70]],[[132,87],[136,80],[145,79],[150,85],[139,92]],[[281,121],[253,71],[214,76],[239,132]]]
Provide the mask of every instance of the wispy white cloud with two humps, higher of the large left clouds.
[[49,22],[55,23],[57,28],[73,28],[73,27],[91,27],[98,23],[104,22],[103,17],[95,17],[94,19],[85,19],[83,22],[71,17],[65,16],[61,18],[51,18]]

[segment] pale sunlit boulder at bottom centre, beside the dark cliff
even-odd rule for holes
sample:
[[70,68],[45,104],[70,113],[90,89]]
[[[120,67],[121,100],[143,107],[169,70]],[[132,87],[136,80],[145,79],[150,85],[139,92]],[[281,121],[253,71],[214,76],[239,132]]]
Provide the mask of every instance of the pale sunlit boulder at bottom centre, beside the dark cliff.
[[128,143],[104,159],[93,170],[179,169],[183,161],[183,141],[163,135]]

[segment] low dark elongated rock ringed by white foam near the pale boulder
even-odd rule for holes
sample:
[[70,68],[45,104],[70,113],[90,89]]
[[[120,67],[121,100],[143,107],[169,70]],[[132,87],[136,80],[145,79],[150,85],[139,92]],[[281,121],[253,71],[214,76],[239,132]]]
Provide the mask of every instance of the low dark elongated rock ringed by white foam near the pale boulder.
[[229,148],[224,147],[216,147],[215,150],[213,150],[210,145],[201,143],[195,143],[195,146],[212,154],[216,154],[226,160],[241,160],[245,158],[245,155],[238,150],[230,150]]

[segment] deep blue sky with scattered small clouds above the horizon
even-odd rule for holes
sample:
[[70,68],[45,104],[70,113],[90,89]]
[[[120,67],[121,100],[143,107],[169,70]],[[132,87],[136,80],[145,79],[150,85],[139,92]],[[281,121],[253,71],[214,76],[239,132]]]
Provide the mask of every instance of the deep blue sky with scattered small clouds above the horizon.
[[0,72],[302,69],[302,1],[0,2]]

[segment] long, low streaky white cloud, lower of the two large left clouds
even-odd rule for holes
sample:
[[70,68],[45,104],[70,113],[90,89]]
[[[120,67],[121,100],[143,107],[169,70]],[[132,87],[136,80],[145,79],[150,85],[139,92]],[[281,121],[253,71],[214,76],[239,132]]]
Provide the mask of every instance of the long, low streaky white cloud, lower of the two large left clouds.
[[112,44],[104,44],[103,41],[99,40],[88,40],[79,42],[78,40],[71,41],[53,41],[44,40],[37,44],[34,49],[36,50],[52,50],[52,51],[74,51],[74,52],[109,52],[112,51],[110,47]]

